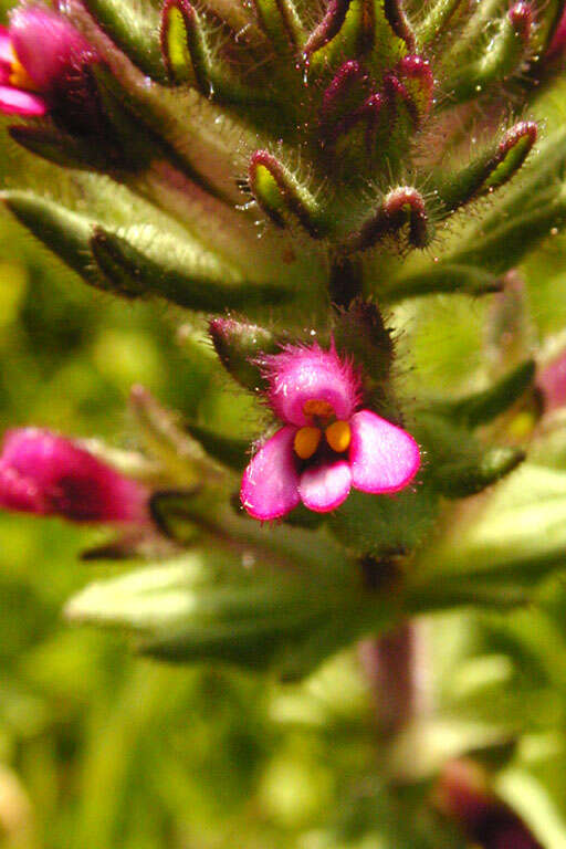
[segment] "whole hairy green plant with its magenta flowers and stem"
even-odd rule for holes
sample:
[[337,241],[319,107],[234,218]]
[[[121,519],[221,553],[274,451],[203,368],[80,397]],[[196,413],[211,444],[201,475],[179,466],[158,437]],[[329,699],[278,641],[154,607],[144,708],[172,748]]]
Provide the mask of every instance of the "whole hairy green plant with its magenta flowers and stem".
[[[537,347],[523,272],[566,223],[566,122],[545,112],[564,7],[12,10],[3,203],[88,284],[175,305],[254,427],[138,386],[137,452],[6,434],[2,507],[109,524],[87,555],[138,558],[72,620],[286,681],[364,639],[389,740],[415,706],[415,617],[524,606],[564,568],[566,365]],[[479,321],[481,357],[453,346],[439,387],[442,339]],[[468,767],[436,809],[481,846],[538,846]],[[507,842],[473,819],[492,808]]]

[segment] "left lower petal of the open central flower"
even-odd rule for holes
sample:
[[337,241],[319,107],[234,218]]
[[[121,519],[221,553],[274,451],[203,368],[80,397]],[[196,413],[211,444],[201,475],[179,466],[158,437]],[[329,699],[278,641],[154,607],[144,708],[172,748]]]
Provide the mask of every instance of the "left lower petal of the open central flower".
[[296,428],[286,426],[268,439],[252,458],[242,478],[240,497],[253,518],[281,518],[298,497],[298,473],[293,453]]

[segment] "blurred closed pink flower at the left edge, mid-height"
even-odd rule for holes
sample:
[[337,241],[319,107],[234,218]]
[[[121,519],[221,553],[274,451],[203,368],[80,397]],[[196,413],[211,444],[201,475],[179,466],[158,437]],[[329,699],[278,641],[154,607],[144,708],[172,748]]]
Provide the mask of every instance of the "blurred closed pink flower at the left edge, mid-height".
[[8,431],[0,507],[74,522],[144,522],[147,491],[84,448],[49,430]]

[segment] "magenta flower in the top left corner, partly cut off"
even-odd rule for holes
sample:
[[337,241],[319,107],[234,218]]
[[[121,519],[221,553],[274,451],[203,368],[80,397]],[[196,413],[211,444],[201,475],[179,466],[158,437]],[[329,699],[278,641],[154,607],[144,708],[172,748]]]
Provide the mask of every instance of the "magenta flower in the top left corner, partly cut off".
[[98,60],[94,48],[61,14],[22,6],[0,27],[0,112],[41,116],[84,111],[92,98],[85,67]]

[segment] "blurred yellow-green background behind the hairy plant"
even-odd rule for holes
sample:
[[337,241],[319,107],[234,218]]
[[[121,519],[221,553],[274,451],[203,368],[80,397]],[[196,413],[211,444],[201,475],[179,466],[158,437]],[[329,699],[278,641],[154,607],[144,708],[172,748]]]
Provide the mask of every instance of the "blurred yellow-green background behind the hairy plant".
[[[542,108],[549,124],[560,99]],[[535,346],[566,327],[565,256],[556,238],[523,270]],[[408,390],[481,384],[489,311],[459,297],[408,306]],[[218,428],[252,430],[207,349],[189,357],[178,344],[179,323],[165,305],[87,289],[2,214],[0,430],[33,423],[128,446],[135,382]],[[66,598],[107,572],[77,559],[102,538],[0,515],[0,847],[462,849],[426,801],[442,758],[470,748],[544,846],[566,847],[563,581],[526,610],[423,623],[427,706],[394,753],[411,783],[387,788],[354,650],[283,685],[138,660],[119,635],[65,623]]]

